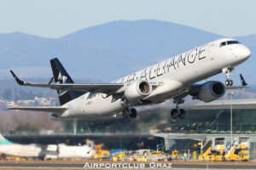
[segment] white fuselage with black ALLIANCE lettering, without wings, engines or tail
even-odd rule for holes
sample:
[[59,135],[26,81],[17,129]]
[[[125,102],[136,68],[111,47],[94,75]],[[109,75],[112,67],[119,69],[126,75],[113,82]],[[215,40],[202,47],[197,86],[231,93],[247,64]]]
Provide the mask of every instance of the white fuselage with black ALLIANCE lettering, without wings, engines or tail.
[[[157,88],[144,100],[157,104],[172,99],[188,90],[191,84],[245,61],[250,56],[250,51],[244,45],[236,43],[220,47],[221,42],[232,40],[223,38],[209,42],[114,82],[127,86],[131,82],[144,79],[157,84]],[[142,104],[132,103],[132,106],[136,105]],[[61,117],[86,119],[113,116],[123,111],[127,104],[122,99],[114,99],[112,95],[107,97],[106,94],[96,94],[90,98],[90,93],[86,93],[63,106],[68,107],[68,110]]]

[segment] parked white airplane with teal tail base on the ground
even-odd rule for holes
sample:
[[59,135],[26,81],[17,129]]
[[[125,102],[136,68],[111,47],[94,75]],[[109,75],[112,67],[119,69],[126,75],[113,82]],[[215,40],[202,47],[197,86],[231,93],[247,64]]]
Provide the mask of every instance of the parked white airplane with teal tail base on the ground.
[[[5,156],[20,156],[33,159],[90,158],[95,150],[87,145],[71,146],[67,144],[15,144],[0,133],[0,153]],[[3,155],[2,155],[3,157]]]

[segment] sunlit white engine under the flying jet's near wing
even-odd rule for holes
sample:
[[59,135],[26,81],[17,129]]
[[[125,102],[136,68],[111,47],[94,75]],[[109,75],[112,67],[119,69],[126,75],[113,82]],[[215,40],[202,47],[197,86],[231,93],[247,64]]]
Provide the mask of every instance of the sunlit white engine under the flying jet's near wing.
[[129,101],[143,99],[152,92],[152,86],[148,81],[138,80],[131,82],[125,89],[125,98]]

